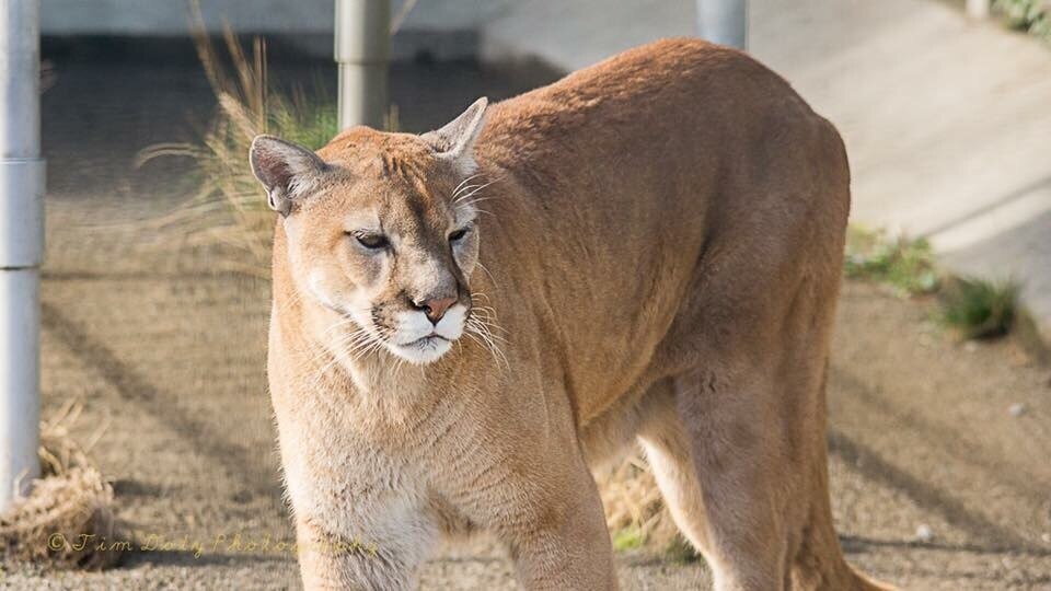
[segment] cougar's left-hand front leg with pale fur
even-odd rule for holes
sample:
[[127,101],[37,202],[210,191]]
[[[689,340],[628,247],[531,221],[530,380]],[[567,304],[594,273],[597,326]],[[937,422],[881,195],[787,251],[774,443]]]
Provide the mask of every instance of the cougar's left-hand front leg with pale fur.
[[438,537],[424,483],[366,442],[311,432],[280,431],[303,587],[414,589]]

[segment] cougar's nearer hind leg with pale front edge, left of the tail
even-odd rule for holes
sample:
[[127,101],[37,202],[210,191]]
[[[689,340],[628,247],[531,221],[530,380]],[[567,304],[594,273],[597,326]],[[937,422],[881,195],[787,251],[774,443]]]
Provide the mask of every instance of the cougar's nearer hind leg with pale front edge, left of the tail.
[[744,393],[697,392],[702,376],[691,372],[660,386],[665,404],[638,440],[675,524],[712,568],[715,588],[784,589],[784,483],[764,421],[752,415]]

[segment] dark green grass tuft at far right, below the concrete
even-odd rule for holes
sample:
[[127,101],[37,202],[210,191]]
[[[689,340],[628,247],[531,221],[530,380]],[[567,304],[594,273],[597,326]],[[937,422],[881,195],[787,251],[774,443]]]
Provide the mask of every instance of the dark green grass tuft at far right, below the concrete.
[[1018,283],[973,278],[948,281],[942,290],[942,318],[968,339],[1006,335],[1015,323]]

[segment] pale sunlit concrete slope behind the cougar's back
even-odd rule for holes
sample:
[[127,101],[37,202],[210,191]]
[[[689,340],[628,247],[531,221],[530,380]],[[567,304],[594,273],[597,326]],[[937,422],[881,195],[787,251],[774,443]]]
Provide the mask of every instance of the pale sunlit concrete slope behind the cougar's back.
[[[573,70],[691,35],[690,0],[505,3],[482,55]],[[934,0],[751,0],[751,53],[843,134],[854,222],[1024,282],[1051,337],[1051,48]]]

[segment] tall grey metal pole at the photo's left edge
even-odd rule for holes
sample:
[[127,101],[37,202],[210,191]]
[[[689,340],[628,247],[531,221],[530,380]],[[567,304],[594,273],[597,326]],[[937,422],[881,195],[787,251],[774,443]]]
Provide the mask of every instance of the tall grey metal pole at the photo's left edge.
[[0,2],[0,511],[41,473],[38,0]]

